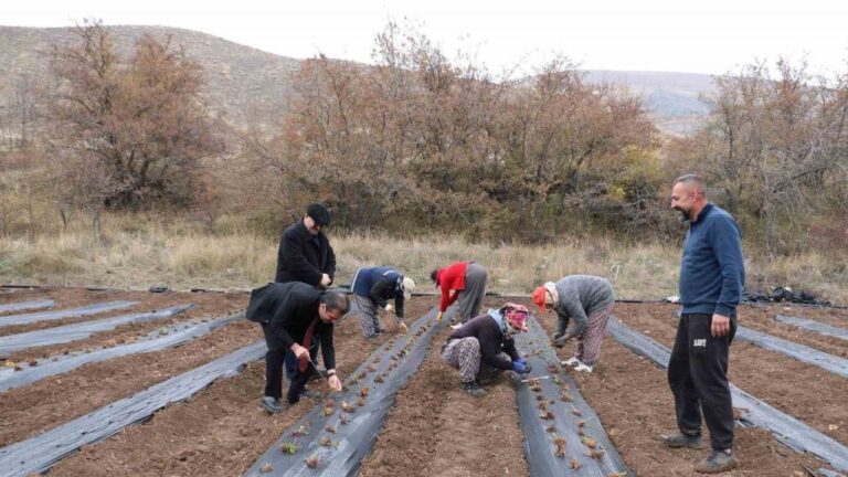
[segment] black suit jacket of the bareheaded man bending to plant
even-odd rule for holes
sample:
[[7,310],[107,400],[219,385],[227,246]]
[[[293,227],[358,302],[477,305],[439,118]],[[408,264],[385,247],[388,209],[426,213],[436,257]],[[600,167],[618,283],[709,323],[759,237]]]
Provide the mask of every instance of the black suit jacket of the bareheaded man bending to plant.
[[336,368],[336,349],[332,346],[332,324],[322,321],[318,317],[318,305],[324,292],[299,282],[285,284],[267,284],[264,287],[251,292],[251,301],[247,305],[246,318],[267,325],[273,337],[268,348],[290,349],[292,344],[304,343],[306,329],[312,321],[315,326],[314,337],[321,341],[321,354],[327,369]]

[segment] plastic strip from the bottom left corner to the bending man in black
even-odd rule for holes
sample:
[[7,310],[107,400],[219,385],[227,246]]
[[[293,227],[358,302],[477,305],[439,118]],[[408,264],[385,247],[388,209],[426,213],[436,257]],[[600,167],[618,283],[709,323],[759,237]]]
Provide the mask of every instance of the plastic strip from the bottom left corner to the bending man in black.
[[186,400],[219,378],[237,374],[245,363],[265,354],[265,340],[233,351],[129,398],[116,401],[35,437],[0,448],[4,477],[43,473],[84,445],[98,443],[168,404]]

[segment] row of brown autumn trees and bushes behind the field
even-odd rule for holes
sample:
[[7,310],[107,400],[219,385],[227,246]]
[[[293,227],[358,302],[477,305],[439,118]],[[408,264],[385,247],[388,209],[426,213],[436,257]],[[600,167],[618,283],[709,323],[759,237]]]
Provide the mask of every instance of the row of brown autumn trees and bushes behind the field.
[[347,229],[667,239],[670,181],[693,171],[770,252],[848,244],[848,84],[805,65],[719,78],[706,126],[668,139],[639,97],[568,59],[496,77],[394,23],[371,66],[303,62],[273,134],[212,118],[202,68],[168,41],[119,59],[87,22],[52,60],[51,126],[29,150],[68,184],[45,195],[65,220],[167,203],[276,233],[318,200]]

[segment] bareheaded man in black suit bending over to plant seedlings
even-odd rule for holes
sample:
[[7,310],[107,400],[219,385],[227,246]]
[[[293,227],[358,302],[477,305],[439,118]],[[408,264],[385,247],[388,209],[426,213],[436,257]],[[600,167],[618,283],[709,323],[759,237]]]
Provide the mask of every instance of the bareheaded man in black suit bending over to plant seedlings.
[[[306,390],[306,381],[315,371],[312,356],[317,351],[317,342],[321,343],[330,388],[341,390],[341,381],[336,375],[332,324],[347,311],[348,298],[344,294],[319,290],[298,282],[267,284],[251,293],[246,317],[262,325],[268,347],[265,353],[265,396],[259,403],[262,407],[271,413],[285,411],[280,398],[286,350],[292,351],[297,359],[286,399],[288,404],[300,400]],[[312,337],[318,340],[312,340]]]

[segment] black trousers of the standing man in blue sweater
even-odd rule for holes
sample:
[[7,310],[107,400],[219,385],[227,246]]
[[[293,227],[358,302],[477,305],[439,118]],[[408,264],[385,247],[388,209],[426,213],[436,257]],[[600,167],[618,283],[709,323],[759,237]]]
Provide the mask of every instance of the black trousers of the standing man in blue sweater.
[[733,447],[733,403],[728,383],[730,343],[736,319],[723,337],[710,332],[712,315],[685,314],[677,326],[668,362],[668,384],[675,394],[677,426],[686,434],[701,433],[701,412],[713,449]]

